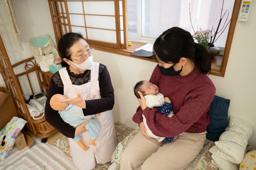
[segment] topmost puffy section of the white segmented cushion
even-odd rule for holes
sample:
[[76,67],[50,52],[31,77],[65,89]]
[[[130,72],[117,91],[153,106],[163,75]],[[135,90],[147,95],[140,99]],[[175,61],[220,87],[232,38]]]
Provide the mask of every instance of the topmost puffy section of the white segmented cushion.
[[252,132],[253,132],[253,127],[249,122],[246,122],[245,120],[237,118],[237,117],[230,116],[228,127],[232,127],[232,126],[237,126],[241,129],[245,130],[248,134],[248,139],[251,138]]

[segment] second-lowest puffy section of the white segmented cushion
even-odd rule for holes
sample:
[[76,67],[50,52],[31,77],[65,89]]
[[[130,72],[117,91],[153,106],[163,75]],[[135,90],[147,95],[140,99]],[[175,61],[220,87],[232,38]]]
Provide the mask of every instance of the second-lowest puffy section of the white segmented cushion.
[[244,157],[244,149],[237,143],[221,140],[214,142],[218,147],[218,155],[229,162],[239,164],[242,162]]

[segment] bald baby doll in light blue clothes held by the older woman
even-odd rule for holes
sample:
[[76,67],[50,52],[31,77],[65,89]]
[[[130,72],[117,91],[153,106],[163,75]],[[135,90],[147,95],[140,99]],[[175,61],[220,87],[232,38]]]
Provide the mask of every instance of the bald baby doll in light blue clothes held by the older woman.
[[[88,124],[85,125],[85,128],[87,131],[89,131],[90,134],[89,143],[95,146],[95,140],[99,136],[100,128],[97,120],[94,119],[94,116],[99,116],[99,113],[95,115],[84,116],[82,108],[77,107],[75,105],[58,102],[56,101],[56,99],[64,100],[67,99],[67,97],[62,94],[55,94],[52,96],[50,100],[51,107],[54,110],[59,111],[59,114],[66,123],[75,128],[78,125],[82,124],[84,121],[88,121]],[[84,151],[87,151],[89,149],[89,147],[82,142],[81,134],[76,135],[73,140],[77,142],[77,144]]]

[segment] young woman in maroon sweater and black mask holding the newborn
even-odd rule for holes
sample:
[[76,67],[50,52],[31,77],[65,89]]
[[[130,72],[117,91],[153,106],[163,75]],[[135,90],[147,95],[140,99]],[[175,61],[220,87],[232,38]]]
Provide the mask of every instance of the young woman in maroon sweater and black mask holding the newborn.
[[[209,54],[194,42],[190,32],[178,27],[164,31],[153,49],[159,64],[149,81],[171,99],[175,115],[169,118],[156,108],[148,108],[139,92],[140,106],[133,121],[141,131],[122,153],[121,170],[183,170],[200,152],[206,139],[207,111],[215,95],[215,87],[206,75],[211,68]],[[178,139],[158,144],[149,138],[142,114],[154,135],[179,136]]]

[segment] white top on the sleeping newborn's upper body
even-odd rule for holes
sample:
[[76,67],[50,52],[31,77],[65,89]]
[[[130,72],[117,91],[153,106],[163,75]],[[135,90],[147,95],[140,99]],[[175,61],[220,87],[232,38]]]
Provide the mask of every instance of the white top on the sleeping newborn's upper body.
[[163,106],[163,103],[165,102],[164,95],[162,93],[158,93],[156,95],[149,94],[144,97],[146,99],[146,105],[151,109],[153,107]]

